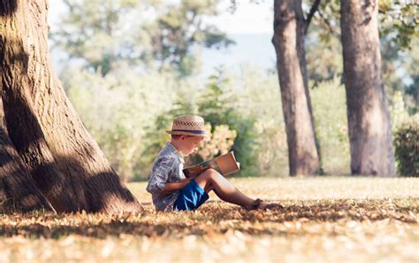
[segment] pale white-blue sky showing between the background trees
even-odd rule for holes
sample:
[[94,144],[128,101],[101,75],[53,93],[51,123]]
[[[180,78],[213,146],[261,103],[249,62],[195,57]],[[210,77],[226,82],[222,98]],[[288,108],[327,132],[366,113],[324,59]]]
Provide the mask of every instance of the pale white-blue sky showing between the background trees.
[[[208,19],[208,23],[216,25],[235,44],[222,50],[203,49],[202,77],[213,73],[214,68],[221,65],[232,70],[239,70],[240,65],[243,64],[263,70],[271,69],[275,65],[275,50],[270,43],[273,35],[272,1],[236,0],[236,10],[229,12],[230,7],[231,0],[222,0],[219,10],[223,12],[217,18]],[[63,12],[65,12],[65,9],[61,0],[50,0],[49,19],[52,30],[57,25],[57,20]],[[52,52],[52,56],[53,64],[59,71],[59,54]],[[54,58],[54,56],[57,58]]]

